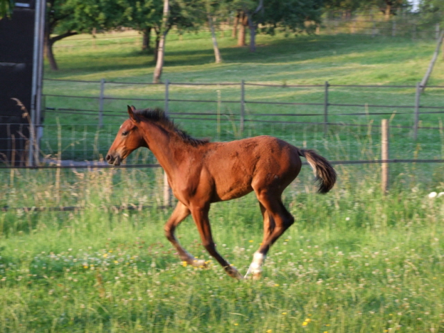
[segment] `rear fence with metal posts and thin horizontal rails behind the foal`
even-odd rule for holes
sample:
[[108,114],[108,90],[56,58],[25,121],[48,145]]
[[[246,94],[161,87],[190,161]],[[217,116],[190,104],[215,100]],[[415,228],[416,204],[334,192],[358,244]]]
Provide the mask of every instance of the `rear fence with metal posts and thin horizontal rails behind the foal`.
[[[268,121],[268,118],[273,118],[273,122],[295,122],[295,123],[311,123],[323,124],[325,131],[327,126],[367,126],[369,116],[391,117],[393,112],[398,116],[403,116],[401,123],[395,126],[402,128],[413,128],[415,137],[418,129],[439,130],[434,119],[429,121],[429,125],[425,125],[426,121],[422,121],[421,116],[426,114],[444,114],[444,105],[441,101],[440,95],[443,92],[444,86],[427,86],[431,91],[427,96],[421,96],[420,90],[422,86],[418,83],[416,85],[332,85],[325,82],[324,85],[272,85],[262,83],[248,83],[241,80],[240,83],[173,83],[167,80],[165,83],[122,83],[122,82],[106,82],[105,79],[101,81],[86,81],[86,80],[56,80],[46,79],[51,83],[68,83],[71,90],[76,90],[76,83],[88,84],[95,86],[96,96],[79,96],[78,94],[44,94],[46,100],[45,111],[56,114],[77,114],[77,115],[91,115],[98,117],[97,126],[103,126],[104,117],[121,117],[122,108],[121,102],[155,102],[163,106],[167,114],[180,116],[178,119],[203,121],[209,119],[216,119],[217,117],[232,117],[239,122],[240,130],[244,130],[245,123]],[[139,93],[139,97],[133,93],[133,87],[144,87],[145,91],[148,89],[155,91],[148,93],[144,97],[144,92]],[[107,93],[107,89],[110,94]],[[150,88],[148,88],[150,87]],[[174,90],[174,87],[182,88]],[[221,89],[230,87],[230,91],[225,89],[224,94],[231,99],[222,98]],[[211,92],[209,92],[209,89]],[[252,90],[252,96],[248,96],[248,88]],[[112,96],[113,92],[117,92],[123,96]],[[139,88],[138,88],[139,89]],[[143,89],[143,88],[142,88]],[[126,90],[126,92],[124,91]],[[219,94],[212,94],[219,92]],[[384,92],[384,90],[386,92]],[[287,95],[287,100],[284,98],[277,99],[277,93],[282,94],[282,91]],[[303,91],[304,96],[298,96],[298,92]],[[393,103],[397,101],[393,92],[401,94],[399,101],[401,103]],[[208,96],[213,95],[213,99]],[[345,95],[346,94],[346,95]],[[335,96],[337,95],[337,96]],[[342,97],[341,97],[342,95]],[[350,95],[355,95],[355,101],[361,103],[346,103],[341,99],[350,100]],[[183,98],[181,98],[183,96]],[[189,98],[188,96],[197,96],[197,98]],[[409,96],[409,99],[405,97]],[[377,97],[377,98],[375,98]],[[65,107],[51,107],[52,101],[58,99],[58,104]],[[67,108],[69,101],[82,101],[87,99],[96,105],[96,108]],[[291,101],[291,99],[296,101]],[[375,100],[391,101],[392,103],[371,103]],[[60,101],[62,101],[60,103]],[[111,110],[105,109],[104,105],[110,105],[111,101],[117,101],[119,108]],[[178,108],[172,108],[171,105],[176,106],[180,103],[180,112]],[[71,102],[75,104],[75,102]],[[185,105],[206,104],[211,105],[210,108],[194,108],[193,106],[187,108]],[[237,108],[237,112],[223,112],[221,105],[230,105],[230,108]],[[234,106],[233,106],[234,105]],[[235,106],[237,105],[237,106]],[[282,113],[271,112],[268,106],[290,107]],[[298,110],[293,108],[296,106],[308,106],[310,111]],[[265,108],[264,108],[265,107]],[[250,108],[249,112],[246,110]],[[170,110],[171,109],[171,110]],[[187,111],[189,110],[189,111]],[[266,112],[261,112],[266,110]],[[274,109],[273,109],[274,110]],[[348,110],[351,110],[348,112]],[[357,110],[361,110],[357,112]],[[395,111],[394,111],[395,110]],[[345,123],[342,117],[361,117],[366,123]],[[282,118],[283,117],[283,118]],[[280,119],[282,118],[282,119]],[[305,118],[303,121],[294,121],[293,119]],[[427,119],[424,119],[427,120]],[[432,124],[435,124],[433,126]]]

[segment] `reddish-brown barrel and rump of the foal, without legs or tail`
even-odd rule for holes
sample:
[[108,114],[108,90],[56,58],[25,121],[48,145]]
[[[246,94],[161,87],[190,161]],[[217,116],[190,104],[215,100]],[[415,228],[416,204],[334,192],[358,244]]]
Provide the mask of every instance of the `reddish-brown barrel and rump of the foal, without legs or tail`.
[[239,198],[256,187],[287,187],[298,176],[298,148],[271,136],[208,146],[205,168],[212,175],[215,200]]

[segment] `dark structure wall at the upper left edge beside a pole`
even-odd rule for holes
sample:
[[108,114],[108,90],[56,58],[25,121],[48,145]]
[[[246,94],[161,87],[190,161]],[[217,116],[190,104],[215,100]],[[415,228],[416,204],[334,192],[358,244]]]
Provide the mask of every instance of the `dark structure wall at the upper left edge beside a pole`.
[[31,112],[35,10],[26,1],[20,6],[0,19],[0,164],[27,159],[30,118],[12,99]]

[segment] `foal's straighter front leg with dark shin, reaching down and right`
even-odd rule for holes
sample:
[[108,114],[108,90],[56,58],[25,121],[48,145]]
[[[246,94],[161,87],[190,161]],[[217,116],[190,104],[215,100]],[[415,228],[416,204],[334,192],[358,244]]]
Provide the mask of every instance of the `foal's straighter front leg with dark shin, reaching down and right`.
[[241,280],[244,277],[237,271],[237,269],[230,265],[223,257],[216,251],[216,246],[213,241],[210,220],[208,219],[208,211],[210,210],[210,204],[204,205],[204,207],[191,207],[191,215],[198,228],[202,244],[205,249],[214,257],[214,259],[222,265],[225,272],[232,278]]

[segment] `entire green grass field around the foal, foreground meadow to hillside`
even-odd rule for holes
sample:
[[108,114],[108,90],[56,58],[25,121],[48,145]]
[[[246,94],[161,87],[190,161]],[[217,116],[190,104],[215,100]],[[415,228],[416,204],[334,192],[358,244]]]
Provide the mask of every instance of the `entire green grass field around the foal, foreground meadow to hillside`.
[[[130,38],[129,44],[103,47],[98,39],[94,49],[92,44],[80,47],[90,42],[73,37],[64,42],[73,46],[56,51],[60,72],[46,70],[45,76],[150,82],[153,62]],[[188,83],[245,79],[410,85],[420,80],[434,49],[432,42],[346,35],[259,36],[258,42],[258,52],[251,54],[224,38],[220,44],[225,62],[214,65],[209,40],[171,41],[164,78]],[[442,69],[439,60],[432,84],[443,85]],[[47,81],[44,89],[45,94],[69,89],[96,94],[89,84],[71,87]],[[216,89],[200,90],[198,98],[216,94]],[[297,96],[287,91],[280,96],[258,88],[251,89],[248,99],[308,100],[310,93],[301,89]],[[374,103],[370,92],[361,97],[340,93],[335,97],[333,92],[332,99]],[[117,94],[117,88],[110,92]],[[128,101],[108,107],[124,112],[131,98],[146,92],[136,89],[132,94]],[[162,90],[150,94],[161,95]],[[176,94],[194,98],[187,89]],[[234,96],[229,89],[226,94]],[[430,89],[424,99],[438,103],[440,94]],[[413,97],[392,92],[384,98],[402,103]],[[62,108],[64,103],[46,99],[46,106]],[[80,104],[73,102],[74,108]],[[236,111],[228,106],[224,110]],[[251,116],[264,110],[248,112]],[[393,117],[395,125],[404,116]],[[44,149],[52,157],[63,153],[77,160],[98,159],[123,119],[109,117],[98,129],[96,119],[47,113]],[[361,122],[352,116],[344,119]],[[425,114],[423,121],[439,127],[442,117]],[[377,117],[366,117],[364,127],[332,127],[326,136],[321,125],[252,122],[240,135],[231,119],[221,123],[220,132],[215,121],[176,122],[191,135],[213,139],[273,134],[316,148],[329,160],[376,160],[380,155]],[[420,130],[413,142],[410,129],[391,128],[392,158],[442,159],[443,152],[442,130]],[[135,162],[155,162],[148,151],[133,154]],[[385,196],[379,168],[336,165],[338,183],[321,196],[314,193],[311,170],[302,167],[284,192],[296,223],[271,248],[263,278],[255,282],[234,281],[212,262],[200,269],[179,261],[163,236],[171,209],[159,208],[160,169],[0,171],[0,206],[9,208],[0,212],[0,332],[444,332],[443,166],[391,166],[391,188]],[[78,208],[34,209],[60,206]],[[246,273],[262,241],[255,197],[217,203],[210,219],[218,250]],[[211,259],[191,219],[180,225],[178,236],[196,257]]]

